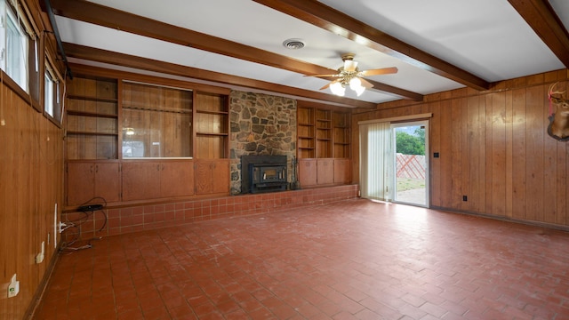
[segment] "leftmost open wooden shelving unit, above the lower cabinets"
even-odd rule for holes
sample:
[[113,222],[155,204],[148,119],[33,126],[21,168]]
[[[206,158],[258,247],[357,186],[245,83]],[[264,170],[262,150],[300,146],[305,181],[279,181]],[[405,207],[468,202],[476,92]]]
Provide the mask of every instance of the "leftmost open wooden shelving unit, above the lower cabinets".
[[67,90],[67,159],[117,159],[116,79],[74,76]]

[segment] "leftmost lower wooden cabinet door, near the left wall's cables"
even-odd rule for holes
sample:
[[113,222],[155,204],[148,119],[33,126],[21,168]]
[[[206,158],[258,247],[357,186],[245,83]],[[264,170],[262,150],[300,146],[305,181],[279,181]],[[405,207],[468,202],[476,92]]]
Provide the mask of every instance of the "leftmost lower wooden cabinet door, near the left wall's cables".
[[95,164],[68,163],[68,205],[84,204],[94,194]]

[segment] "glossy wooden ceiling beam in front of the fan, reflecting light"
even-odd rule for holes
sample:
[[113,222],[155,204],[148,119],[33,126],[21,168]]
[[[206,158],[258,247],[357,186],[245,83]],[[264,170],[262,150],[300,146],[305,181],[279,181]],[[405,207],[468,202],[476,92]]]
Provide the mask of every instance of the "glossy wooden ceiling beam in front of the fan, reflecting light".
[[453,66],[445,60],[423,52],[413,45],[405,44],[393,36],[381,32],[349,15],[339,12],[316,0],[253,0],[267,5],[276,11],[304,20],[317,27],[324,28],[338,36],[344,36],[358,44],[367,45],[374,50],[388,54],[399,60],[424,70],[445,76],[460,84],[477,90],[487,90],[490,83]]

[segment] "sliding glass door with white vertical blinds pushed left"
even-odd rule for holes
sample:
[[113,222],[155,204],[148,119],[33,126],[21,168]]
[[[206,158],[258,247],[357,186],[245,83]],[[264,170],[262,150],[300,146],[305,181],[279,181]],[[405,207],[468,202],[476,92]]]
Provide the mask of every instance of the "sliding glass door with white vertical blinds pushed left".
[[359,130],[361,196],[429,207],[429,121],[369,122]]

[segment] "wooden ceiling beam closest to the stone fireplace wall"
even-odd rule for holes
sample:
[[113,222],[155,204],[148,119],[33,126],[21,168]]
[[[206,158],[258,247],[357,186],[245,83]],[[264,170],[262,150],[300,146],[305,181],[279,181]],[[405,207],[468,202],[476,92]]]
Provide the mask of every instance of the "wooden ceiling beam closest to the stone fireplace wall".
[[91,60],[101,63],[108,63],[115,66],[135,68],[172,76],[184,76],[188,77],[190,80],[199,79],[217,84],[229,84],[233,86],[247,87],[264,92],[282,93],[289,96],[307,98],[310,100],[320,100],[323,101],[323,103],[325,101],[329,101],[336,104],[341,104],[349,108],[376,108],[377,106],[373,102],[341,98],[327,93],[313,92],[281,84],[271,84],[268,82],[253,80],[241,76],[230,76],[219,72],[213,72],[199,68],[191,68],[148,58],[140,58],[124,53],[110,52],[107,50],[92,48],[79,44],[63,43],[63,49],[70,58]]

